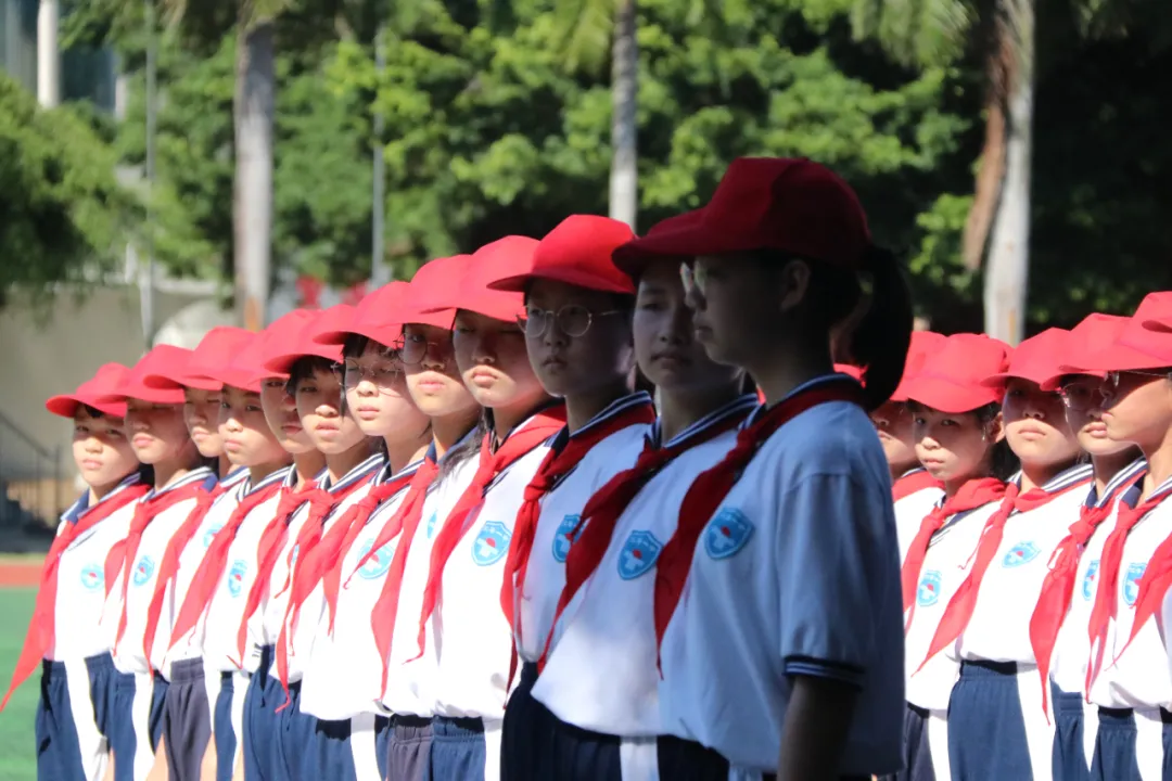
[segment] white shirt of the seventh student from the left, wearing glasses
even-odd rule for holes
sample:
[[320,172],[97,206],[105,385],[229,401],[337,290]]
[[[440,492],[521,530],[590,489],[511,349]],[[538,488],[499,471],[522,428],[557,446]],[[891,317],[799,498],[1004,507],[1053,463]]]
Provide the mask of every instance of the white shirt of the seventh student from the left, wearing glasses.
[[[422,464],[416,461],[395,475],[388,475],[384,468],[379,482],[414,474]],[[329,631],[329,611],[322,601],[301,679],[302,713],[327,721],[352,719],[363,713],[383,714],[379,705],[382,657],[370,631],[370,615],[387,582],[398,535],[388,540],[361,569],[355,569],[359,559],[370,550],[383,527],[398,512],[408,487],[403,486],[402,491],[379,505],[350,548],[342,554],[334,630]],[[309,616],[302,615],[301,621],[309,621]]]

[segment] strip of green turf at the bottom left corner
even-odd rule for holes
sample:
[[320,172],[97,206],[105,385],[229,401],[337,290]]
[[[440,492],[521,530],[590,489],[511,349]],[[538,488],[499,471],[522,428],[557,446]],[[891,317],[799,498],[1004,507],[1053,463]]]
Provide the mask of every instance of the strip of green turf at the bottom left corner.
[[[4,626],[0,632],[0,685],[5,690],[25,642],[35,595],[36,589],[0,589],[0,626]],[[40,676],[40,671],[33,673],[0,713],[0,781],[30,781],[36,777],[33,719]]]

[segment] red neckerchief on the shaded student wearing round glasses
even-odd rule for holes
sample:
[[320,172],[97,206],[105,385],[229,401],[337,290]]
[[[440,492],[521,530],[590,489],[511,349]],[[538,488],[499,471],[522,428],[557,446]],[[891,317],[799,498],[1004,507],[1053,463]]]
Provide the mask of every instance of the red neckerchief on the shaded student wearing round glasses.
[[[500,584],[500,609],[509,619],[513,633],[520,633],[520,617],[515,617],[516,600],[525,590],[525,574],[529,570],[529,554],[533,549],[533,539],[537,535],[537,521],[541,515],[541,499],[548,493],[558,481],[570,474],[571,471],[604,439],[611,437],[624,429],[635,425],[650,425],[655,423],[655,407],[652,404],[633,404],[621,412],[600,420],[599,423],[581,431],[577,436],[571,436],[565,447],[560,451],[550,450],[545,460],[537,467],[537,473],[529,485],[520,509],[517,512],[517,520],[513,522],[512,540],[509,543],[509,557],[505,560],[504,582]],[[570,537],[573,542],[573,537]],[[573,546],[571,546],[573,547]],[[513,657],[510,664],[509,683],[512,683],[517,670],[517,650],[513,646]]]

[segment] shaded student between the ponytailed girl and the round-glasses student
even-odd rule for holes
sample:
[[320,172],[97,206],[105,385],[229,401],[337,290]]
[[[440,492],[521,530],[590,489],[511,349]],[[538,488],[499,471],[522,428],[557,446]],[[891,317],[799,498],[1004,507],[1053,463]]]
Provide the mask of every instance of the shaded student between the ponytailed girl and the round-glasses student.
[[[652,228],[668,229],[672,220]],[[659,772],[655,564],[693,479],[732,447],[756,407],[744,372],[714,363],[695,337],[684,256],[619,255],[636,286],[635,359],[659,391],[660,416],[635,464],[585,505],[566,557],[533,699],[548,711],[546,777],[632,781]]]

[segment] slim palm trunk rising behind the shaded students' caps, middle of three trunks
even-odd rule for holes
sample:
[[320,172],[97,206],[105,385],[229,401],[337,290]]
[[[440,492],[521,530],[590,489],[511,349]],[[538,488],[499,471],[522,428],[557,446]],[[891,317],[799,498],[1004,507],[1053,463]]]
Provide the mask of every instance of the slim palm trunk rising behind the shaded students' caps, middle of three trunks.
[[635,229],[639,214],[636,2],[620,0],[611,77],[611,217]]

